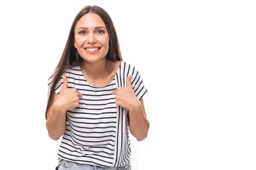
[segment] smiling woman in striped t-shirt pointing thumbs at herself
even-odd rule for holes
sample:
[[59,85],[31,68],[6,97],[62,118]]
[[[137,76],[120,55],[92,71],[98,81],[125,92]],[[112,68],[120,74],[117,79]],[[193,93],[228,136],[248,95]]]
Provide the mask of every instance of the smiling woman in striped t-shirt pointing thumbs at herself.
[[45,118],[58,140],[59,170],[131,170],[129,131],[146,138],[147,94],[136,68],[122,60],[111,17],[85,6],[75,17],[48,80]]

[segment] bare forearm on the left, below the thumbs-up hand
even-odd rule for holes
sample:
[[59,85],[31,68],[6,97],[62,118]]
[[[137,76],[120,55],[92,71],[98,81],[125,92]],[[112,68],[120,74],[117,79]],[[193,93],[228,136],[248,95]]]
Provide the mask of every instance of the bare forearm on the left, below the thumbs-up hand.
[[66,112],[56,109],[54,106],[50,108],[46,128],[48,135],[52,139],[58,140],[66,131]]

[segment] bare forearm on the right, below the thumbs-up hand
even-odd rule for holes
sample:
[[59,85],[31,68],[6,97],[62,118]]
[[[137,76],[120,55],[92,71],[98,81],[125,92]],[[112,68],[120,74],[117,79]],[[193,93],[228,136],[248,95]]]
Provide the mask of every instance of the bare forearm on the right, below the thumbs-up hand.
[[130,132],[138,141],[145,139],[149,130],[150,123],[144,112],[144,106],[140,101],[138,101],[137,105],[134,106],[133,109],[129,110]]

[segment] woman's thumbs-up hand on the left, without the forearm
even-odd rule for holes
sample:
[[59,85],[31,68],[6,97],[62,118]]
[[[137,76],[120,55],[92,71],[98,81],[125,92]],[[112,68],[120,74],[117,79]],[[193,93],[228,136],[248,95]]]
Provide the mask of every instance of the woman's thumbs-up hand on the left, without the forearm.
[[68,79],[63,76],[63,85],[61,87],[57,103],[61,110],[69,110],[79,106],[79,98],[82,94],[76,88],[68,88]]

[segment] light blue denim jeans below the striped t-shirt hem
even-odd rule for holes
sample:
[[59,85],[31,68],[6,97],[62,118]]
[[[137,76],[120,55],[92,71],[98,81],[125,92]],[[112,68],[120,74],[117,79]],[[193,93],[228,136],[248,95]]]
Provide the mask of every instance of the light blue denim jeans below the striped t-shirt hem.
[[56,170],[125,170],[125,167],[98,167],[63,160]]

